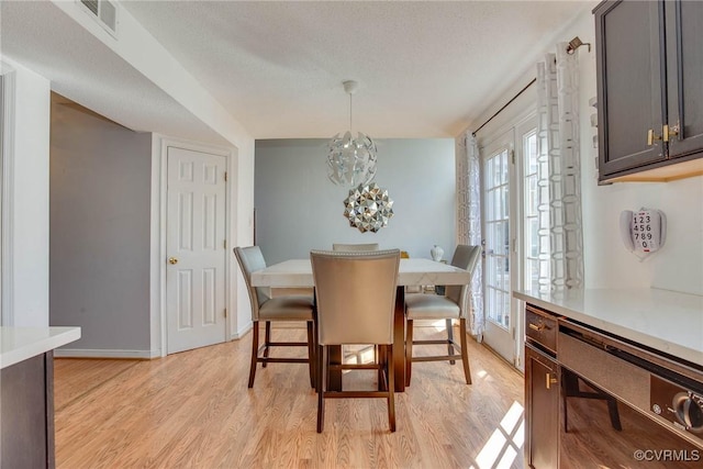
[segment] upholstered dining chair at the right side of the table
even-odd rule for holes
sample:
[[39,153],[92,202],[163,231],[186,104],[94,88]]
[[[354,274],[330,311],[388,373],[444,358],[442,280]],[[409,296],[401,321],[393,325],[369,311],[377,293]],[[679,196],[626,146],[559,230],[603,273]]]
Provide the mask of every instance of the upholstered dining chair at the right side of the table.
[[[468,270],[473,276],[481,258],[480,246],[458,245],[451,258],[451,265]],[[466,383],[471,384],[471,369],[467,351],[466,319],[469,310],[468,295],[470,286],[447,286],[444,295],[414,293],[405,295],[405,386],[410,386],[413,361],[448,360],[451,365],[460,359],[464,364]],[[413,322],[416,320],[446,320],[447,338],[415,340]],[[453,321],[459,320],[460,345],[454,340]],[[447,355],[414,356],[414,345],[447,345]],[[459,349],[459,354],[455,351]]]

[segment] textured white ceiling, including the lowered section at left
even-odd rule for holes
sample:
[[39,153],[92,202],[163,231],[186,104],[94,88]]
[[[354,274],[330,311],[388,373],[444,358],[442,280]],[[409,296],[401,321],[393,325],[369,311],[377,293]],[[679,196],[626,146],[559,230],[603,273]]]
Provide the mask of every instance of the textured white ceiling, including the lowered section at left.
[[[57,92],[132,129],[211,132],[194,129],[190,113],[129,64],[79,53],[75,44],[99,45],[86,31],[56,27],[70,20],[55,9],[2,3],[3,54],[34,65]],[[594,2],[122,4],[255,138],[288,138],[346,130],[345,79],[360,85],[356,130],[373,137],[456,136],[479,124],[536,53],[571,40],[555,35]]]

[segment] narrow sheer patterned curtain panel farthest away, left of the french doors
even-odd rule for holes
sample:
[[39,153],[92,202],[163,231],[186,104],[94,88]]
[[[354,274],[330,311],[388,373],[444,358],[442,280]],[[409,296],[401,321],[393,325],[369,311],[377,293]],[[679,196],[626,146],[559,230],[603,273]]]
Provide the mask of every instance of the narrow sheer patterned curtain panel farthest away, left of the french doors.
[[[467,132],[456,141],[457,244],[481,246],[481,170],[476,136]],[[483,338],[483,273],[479,263],[471,280],[469,328]]]

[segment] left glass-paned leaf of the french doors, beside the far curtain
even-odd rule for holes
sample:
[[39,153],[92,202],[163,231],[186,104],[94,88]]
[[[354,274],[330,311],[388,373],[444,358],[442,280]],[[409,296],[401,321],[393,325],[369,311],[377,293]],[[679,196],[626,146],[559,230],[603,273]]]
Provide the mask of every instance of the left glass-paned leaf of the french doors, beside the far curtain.
[[506,132],[483,152],[483,340],[512,364],[515,355],[513,284],[513,223],[511,187],[514,186],[514,131]]

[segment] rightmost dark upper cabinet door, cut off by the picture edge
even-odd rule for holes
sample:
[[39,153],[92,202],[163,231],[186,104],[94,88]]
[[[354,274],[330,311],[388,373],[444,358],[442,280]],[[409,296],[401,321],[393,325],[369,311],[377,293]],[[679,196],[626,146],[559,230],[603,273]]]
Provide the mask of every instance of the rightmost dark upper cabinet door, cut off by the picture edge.
[[669,157],[703,152],[703,2],[668,1],[667,82]]

